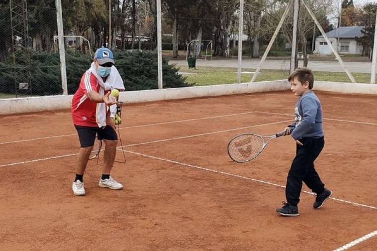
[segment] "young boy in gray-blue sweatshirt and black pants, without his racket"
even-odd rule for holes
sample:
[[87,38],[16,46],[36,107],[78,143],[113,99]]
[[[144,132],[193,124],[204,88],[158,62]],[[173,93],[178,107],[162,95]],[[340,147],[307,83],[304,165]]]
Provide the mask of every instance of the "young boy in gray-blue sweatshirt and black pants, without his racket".
[[286,198],[276,212],[285,216],[298,216],[297,204],[303,182],[317,194],[313,204],[315,209],[321,208],[331,196],[332,191],[325,188],[314,168],[314,161],[325,145],[322,127],[322,106],[313,88],[313,72],[307,68],[299,68],[293,72],[288,81],[291,90],[299,97],[295,108],[296,119],[288,126],[285,135],[291,135],[296,141],[296,157],[288,173]]

